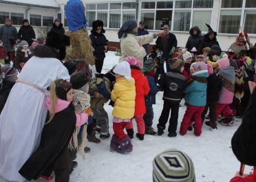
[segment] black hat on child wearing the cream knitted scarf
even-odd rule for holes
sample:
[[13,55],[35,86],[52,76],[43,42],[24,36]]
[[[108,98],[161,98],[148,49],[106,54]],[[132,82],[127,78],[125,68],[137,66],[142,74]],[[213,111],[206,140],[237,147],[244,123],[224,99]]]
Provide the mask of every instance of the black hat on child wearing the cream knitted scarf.
[[85,84],[87,84],[89,80],[89,77],[86,75],[84,71],[78,71],[70,77],[70,82],[72,83],[73,89],[80,89]]

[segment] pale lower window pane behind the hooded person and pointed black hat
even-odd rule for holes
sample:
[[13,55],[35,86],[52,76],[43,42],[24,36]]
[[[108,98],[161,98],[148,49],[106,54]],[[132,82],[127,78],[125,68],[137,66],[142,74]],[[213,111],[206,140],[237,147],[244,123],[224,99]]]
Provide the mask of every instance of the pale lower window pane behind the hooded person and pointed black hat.
[[205,23],[211,25],[211,11],[194,11],[192,26],[198,26],[202,32],[207,32]]

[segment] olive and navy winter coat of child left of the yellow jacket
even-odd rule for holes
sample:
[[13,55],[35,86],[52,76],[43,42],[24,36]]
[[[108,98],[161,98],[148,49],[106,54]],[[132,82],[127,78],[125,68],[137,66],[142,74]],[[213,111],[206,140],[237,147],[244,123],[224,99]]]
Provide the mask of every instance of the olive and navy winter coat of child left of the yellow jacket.
[[102,78],[93,78],[89,83],[89,86],[94,91],[100,93],[91,98],[91,107],[92,109],[102,110],[104,104],[109,101],[111,97],[111,82],[109,79]]

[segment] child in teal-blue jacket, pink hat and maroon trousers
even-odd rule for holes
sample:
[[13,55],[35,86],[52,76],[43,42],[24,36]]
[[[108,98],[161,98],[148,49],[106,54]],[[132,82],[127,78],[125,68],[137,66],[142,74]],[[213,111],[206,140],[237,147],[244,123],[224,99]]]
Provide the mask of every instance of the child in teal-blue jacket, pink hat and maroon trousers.
[[201,115],[206,105],[207,78],[209,77],[206,63],[193,63],[191,65],[191,74],[192,77],[186,82],[185,101],[187,106],[180,126],[180,135],[186,135],[189,123],[193,118],[195,120],[194,133],[199,137],[202,133]]

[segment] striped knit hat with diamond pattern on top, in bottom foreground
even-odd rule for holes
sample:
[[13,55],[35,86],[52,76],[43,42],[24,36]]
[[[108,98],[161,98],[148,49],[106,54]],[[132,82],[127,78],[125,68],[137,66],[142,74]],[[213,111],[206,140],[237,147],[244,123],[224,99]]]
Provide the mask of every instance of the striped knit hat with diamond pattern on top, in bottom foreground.
[[153,182],[195,182],[193,161],[180,150],[167,150],[153,159]]

